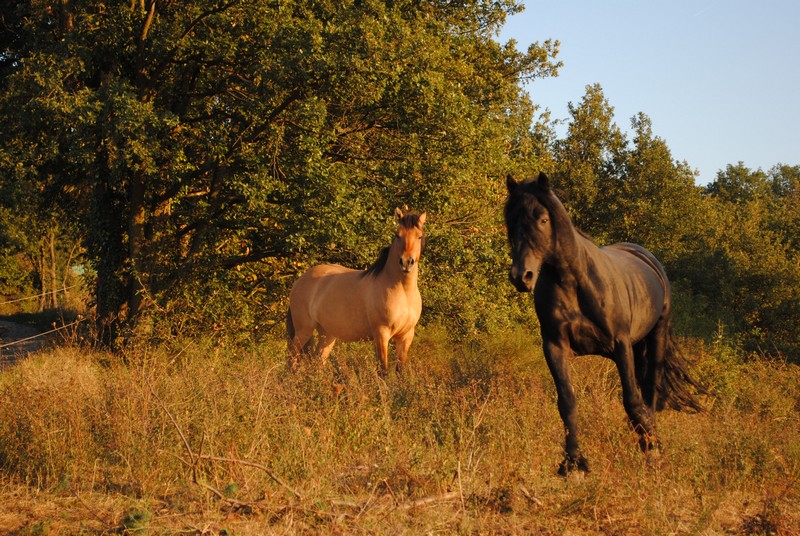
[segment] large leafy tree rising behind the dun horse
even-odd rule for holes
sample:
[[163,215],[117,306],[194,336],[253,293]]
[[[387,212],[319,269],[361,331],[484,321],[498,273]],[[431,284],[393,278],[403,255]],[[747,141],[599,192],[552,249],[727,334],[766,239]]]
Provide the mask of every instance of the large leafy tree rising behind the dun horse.
[[520,81],[557,69],[494,41],[512,0],[16,8],[2,172],[74,211],[106,341],[156,310],[253,320],[304,266],[369,262],[400,204],[460,247],[536,146]]

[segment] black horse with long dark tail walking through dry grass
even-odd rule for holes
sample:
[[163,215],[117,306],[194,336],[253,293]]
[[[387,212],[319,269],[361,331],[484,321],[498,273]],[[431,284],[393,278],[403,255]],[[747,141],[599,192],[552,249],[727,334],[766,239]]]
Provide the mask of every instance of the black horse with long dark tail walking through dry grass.
[[570,220],[548,179],[506,180],[505,220],[511,246],[509,278],[520,292],[533,291],[544,355],[558,392],[566,428],[559,474],[589,471],[578,447],[575,392],[566,360],[601,355],[614,361],[622,399],[644,451],[660,447],[655,412],[665,406],[700,411],[693,380],[670,333],[667,275],[636,244],[597,247]]

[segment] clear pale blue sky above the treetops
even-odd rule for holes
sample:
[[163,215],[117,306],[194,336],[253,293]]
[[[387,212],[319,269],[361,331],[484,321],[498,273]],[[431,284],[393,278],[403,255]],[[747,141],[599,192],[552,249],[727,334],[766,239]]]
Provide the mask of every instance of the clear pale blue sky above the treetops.
[[527,87],[552,118],[599,83],[616,124],[644,112],[699,184],[800,165],[800,0],[523,1],[499,40],[561,42],[559,76]]

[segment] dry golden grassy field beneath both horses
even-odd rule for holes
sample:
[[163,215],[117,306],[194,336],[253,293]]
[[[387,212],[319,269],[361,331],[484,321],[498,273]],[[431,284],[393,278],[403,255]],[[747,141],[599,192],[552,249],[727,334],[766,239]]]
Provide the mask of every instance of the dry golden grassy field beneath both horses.
[[800,534],[800,367],[684,342],[715,396],[659,414],[655,459],[613,365],[573,361],[567,479],[524,332],[428,328],[386,381],[367,344],[291,372],[277,339],[49,350],[0,372],[0,533]]

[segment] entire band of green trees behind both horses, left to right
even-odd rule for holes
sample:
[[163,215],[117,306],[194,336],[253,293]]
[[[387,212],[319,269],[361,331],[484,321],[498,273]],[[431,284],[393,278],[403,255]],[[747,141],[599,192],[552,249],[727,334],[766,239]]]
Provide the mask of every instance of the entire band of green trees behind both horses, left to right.
[[423,325],[531,326],[501,177],[541,169],[599,244],[662,260],[686,333],[800,355],[798,167],[698,187],[597,84],[557,139],[521,82],[557,75],[559,44],[498,43],[514,0],[37,6],[0,28],[0,290],[55,288],[85,255],[104,342],[282,330],[293,280],[368,266],[403,205],[429,214]]

